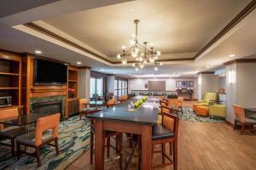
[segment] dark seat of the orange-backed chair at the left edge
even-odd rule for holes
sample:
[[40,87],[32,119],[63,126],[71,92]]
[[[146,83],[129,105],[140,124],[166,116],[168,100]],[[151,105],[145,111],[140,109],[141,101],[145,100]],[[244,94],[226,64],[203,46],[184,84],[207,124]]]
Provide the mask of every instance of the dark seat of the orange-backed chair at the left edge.
[[2,130],[0,130],[0,136],[6,137],[6,138],[15,138],[17,136],[19,136],[20,134],[24,134],[26,133],[25,128],[24,127],[6,127],[3,128]]

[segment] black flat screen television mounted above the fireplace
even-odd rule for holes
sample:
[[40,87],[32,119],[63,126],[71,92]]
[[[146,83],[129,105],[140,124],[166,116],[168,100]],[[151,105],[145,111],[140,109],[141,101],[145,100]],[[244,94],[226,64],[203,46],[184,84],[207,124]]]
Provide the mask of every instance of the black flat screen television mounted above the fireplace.
[[67,65],[45,60],[35,59],[35,85],[65,85],[67,84]]

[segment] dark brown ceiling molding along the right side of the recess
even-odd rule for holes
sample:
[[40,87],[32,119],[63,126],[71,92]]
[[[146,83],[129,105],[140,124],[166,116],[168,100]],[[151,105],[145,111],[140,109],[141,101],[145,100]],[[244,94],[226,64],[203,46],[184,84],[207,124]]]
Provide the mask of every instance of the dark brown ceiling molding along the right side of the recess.
[[218,32],[218,34],[212,38],[201,50],[195,54],[193,59],[197,59],[201,54],[203,54],[208,48],[210,48],[215,42],[217,42],[221,37],[223,37],[228,31],[230,31],[234,26],[236,26],[242,19],[244,19],[247,14],[250,14],[256,8],[256,0],[252,0],[247,4],[245,8],[241,10],[239,14],[236,14],[235,18],[230,21],[227,26]]

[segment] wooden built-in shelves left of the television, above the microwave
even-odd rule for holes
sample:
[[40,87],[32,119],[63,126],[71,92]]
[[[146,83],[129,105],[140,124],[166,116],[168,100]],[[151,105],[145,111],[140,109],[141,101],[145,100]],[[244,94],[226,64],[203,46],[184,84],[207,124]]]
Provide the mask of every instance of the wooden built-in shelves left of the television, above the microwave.
[[0,96],[11,96],[16,106],[20,106],[20,80],[20,56],[0,52]]

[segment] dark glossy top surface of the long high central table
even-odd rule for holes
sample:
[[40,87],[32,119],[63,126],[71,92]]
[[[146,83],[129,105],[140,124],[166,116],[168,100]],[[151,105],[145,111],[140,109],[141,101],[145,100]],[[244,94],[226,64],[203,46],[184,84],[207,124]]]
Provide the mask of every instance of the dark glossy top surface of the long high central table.
[[92,119],[156,125],[159,111],[159,99],[147,99],[136,111],[128,111],[128,109],[132,109],[132,105],[141,98],[141,96],[134,97],[87,117]]

